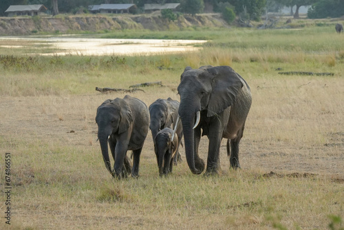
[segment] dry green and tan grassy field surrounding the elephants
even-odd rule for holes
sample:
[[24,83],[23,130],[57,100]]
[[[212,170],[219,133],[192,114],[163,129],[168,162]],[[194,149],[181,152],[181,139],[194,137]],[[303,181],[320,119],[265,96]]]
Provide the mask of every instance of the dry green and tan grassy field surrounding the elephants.
[[[210,40],[200,52],[178,55],[28,56],[0,48],[0,185],[6,153],[12,185],[11,225],[1,218],[0,228],[343,229],[344,36],[327,22],[303,23],[178,32]],[[183,162],[160,178],[149,134],[140,178],[112,179],[94,118],[105,99],[125,94],[95,87],[162,81],[131,95],[147,105],[179,100],[188,65],[230,65],[250,85],[242,169],[229,169],[224,140],[219,176],[191,174],[182,148]],[[292,71],[333,76],[279,74]],[[203,159],[207,144],[202,138]]]

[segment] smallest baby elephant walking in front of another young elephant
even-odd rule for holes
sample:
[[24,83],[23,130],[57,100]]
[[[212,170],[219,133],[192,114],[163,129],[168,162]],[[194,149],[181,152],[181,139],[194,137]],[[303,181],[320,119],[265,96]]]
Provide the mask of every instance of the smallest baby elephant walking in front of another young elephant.
[[173,129],[166,127],[155,136],[155,155],[158,161],[159,175],[167,175],[172,172],[173,158],[177,156],[178,134],[172,141]]

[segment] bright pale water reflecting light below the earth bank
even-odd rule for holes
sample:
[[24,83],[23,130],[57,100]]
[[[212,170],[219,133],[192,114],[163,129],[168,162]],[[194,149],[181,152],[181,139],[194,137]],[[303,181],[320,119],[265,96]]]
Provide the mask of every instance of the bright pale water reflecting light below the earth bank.
[[[30,41],[27,45],[1,45],[1,40]],[[204,40],[168,40],[168,39],[85,39],[70,37],[0,37],[0,47],[22,48],[25,46],[50,45],[54,52],[41,55],[153,55],[181,53],[199,50],[193,45],[202,44]],[[37,45],[37,44],[36,44]]]

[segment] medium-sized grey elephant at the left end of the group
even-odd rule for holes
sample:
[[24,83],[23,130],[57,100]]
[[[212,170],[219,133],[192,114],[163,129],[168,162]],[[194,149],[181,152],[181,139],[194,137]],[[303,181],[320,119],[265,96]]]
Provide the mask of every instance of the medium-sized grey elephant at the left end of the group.
[[[108,99],[98,107],[96,123],[100,149],[110,174],[126,178],[131,171],[131,176],[138,177],[140,154],[149,129],[147,105],[129,95],[123,99]],[[108,143],[114,158],[114,169],[111,169]],[[132,169],[128,150],[133,151]]]

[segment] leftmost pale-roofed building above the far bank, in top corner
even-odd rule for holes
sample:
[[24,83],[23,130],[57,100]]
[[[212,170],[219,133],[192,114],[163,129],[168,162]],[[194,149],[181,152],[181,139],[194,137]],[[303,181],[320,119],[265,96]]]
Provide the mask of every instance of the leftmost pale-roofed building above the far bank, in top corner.
[[19,16],[19,15],[39,15],[47,11],[47,8],[43,5],[12,5],[5,13],[8,17]]

